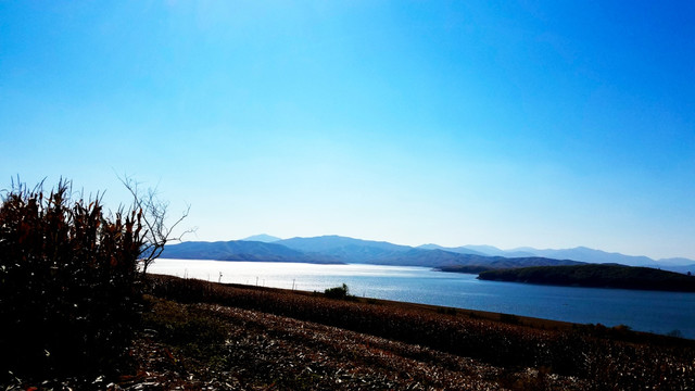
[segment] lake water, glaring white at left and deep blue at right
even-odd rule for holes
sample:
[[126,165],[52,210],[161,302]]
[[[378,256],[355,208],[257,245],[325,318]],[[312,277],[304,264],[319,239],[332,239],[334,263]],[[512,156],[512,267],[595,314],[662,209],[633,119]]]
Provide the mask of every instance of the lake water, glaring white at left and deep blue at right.
[[[323,292],[346,283],[352,294],[480,310],[695,339],[695,293],[554,287],[483,281],[427,267],[157,260],[151,273],[208,281]],[[220,276],[222,274],[222,276]]]

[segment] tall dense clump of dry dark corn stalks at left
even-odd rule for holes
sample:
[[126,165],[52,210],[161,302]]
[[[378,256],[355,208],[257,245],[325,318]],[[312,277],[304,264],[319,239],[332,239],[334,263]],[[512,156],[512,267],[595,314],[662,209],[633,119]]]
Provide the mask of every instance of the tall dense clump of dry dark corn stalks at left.
[[[141,215],[14,189],[0,206],[0,380],[101,374],[139,324]],[[11,374],[10,374],[11,373]]]

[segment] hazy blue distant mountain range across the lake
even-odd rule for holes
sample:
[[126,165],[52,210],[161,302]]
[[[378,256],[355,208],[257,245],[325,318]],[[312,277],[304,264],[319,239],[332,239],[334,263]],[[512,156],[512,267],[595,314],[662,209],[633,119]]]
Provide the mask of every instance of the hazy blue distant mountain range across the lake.
[[564,250],[518,248],[501,250],[492,245],[445,248],[424,244],[417,248],[384,241],[340,236],[280,239],[256,235],[243,240],[184,242],[167,245],[162,257],[218,261],[264,261],[304,263],[364,263],[378,265],[447,267],[479,273],[489,269],[577,265],[581,263],[646,266],[678,273],[695,272],[695,261],[608,253],[578,247]]

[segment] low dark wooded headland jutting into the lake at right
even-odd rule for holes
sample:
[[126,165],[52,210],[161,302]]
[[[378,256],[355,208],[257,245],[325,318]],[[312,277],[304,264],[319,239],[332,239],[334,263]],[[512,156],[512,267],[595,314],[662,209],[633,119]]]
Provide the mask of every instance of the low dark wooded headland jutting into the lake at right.
[[558,286],[695,292],[693,276],[622,265],[522,267],[482,272],[478,278]]

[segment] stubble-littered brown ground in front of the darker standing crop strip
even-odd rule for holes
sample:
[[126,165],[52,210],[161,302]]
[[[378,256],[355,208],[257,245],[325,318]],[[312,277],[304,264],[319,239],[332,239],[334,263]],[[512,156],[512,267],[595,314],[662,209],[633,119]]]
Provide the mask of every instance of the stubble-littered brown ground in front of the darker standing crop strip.
[[[137,376],[112,389],[138,390],[582,390],[586,382],[532,368],[500,368],[420,345],[215,304],[170,306],[218,319],[224,363],[191,357],[150,331],[138,339]],[[168,310],[166,310],[169,307]]]

